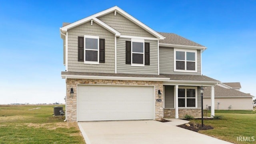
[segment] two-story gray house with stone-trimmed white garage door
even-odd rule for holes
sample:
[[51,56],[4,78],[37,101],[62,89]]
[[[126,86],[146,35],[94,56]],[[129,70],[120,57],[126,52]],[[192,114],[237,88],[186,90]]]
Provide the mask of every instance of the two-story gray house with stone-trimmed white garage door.
[[114,6],[60,28],[66,120],[160,120],[201,116],[205,46],[156,32]]

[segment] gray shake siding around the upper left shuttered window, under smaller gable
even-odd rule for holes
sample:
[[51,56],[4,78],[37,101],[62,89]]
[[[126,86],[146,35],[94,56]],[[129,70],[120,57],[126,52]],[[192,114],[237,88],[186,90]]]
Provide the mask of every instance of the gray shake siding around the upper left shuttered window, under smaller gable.
[[[84,64],[78,62],[78,36],[99,36],[105,39],[105,63]],[[76,26],[68,30],[68,71],[115,73],[114,34],[95,22]]]

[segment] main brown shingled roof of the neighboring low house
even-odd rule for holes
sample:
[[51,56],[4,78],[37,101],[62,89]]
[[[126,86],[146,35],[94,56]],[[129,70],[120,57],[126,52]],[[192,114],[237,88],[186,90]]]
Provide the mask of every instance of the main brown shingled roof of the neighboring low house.
[[[204,97],[211,97],[211,88],[210,87],[206,87],[204,89]],[[228,88],[223,88],[221,86],[215,86],[214,87],[214,97],[215,98],[239,98],[239,97],[254,97],[250,94],[246,94],[244,92],[240,92],[238,90],[234,90],[234,89],[228,89]]]

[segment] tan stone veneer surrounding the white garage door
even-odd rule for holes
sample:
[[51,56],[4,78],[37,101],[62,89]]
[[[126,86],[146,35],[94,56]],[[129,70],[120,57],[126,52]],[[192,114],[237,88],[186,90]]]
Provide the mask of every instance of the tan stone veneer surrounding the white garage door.
[[[76,86],[77,84],[107,84],[107,85],[131,85],[131,86],[155,86],[155,100],[162,99],[162,102],[155,101],[155,119],[161,120],[164,117],[163,97],[158,98],[158,90],[163,92],[163,82],[156,81],[138,81],[138,80],[92,80],[92,79],[75,79],[67,78],[67,121],[76,121]],[[70,88],[73,88],[74,95],[70,97]]]

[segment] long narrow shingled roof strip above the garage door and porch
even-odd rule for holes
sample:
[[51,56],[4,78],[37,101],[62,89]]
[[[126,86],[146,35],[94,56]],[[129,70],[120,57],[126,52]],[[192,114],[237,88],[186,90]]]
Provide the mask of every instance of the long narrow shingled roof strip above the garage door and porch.
[[184,75],[184,74],[115,74],[115,73],[94,73],[94,72],[61,72],[62,78],[112,78],[126,80],[162,80],[162,81],[202,81],[202,82],[219,82],[213,78],[200,75]]

